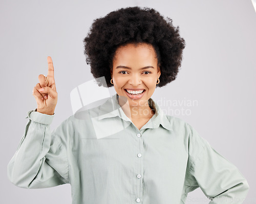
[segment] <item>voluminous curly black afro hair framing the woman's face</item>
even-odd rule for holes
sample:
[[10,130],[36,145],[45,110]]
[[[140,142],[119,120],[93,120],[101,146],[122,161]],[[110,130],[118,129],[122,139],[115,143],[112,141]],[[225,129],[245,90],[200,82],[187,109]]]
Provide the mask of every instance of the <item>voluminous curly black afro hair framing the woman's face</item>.
[[[180,37],[179,26],[164,18],[158,11],[147,7],[127,7],[110,12],[94,20],[84,42],[87,64],[94,78],[104,76],[108,87],[113,58],[118,47],[127,43],[150,43],[160,65],[159,87],[176,79],[182,61],[185,40]],[[99,84],[103,85],[103,84]],[[104,86],[104,85],[103,85]]]

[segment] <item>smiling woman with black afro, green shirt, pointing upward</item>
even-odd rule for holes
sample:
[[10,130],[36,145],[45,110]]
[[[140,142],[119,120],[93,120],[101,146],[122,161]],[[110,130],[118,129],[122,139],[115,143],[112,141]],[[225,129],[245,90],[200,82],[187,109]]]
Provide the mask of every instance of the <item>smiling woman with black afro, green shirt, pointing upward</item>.
[[117,94],[50,133],[57,92],[48,57],[48,76],[33,89],[37,109],[8,165],[13,184],[71,184],[73,203],[185,203],[198,187],[211,203],[243,202],[249,187],[240,171],[151,99],[181,65],[185,42],[172,20],[119,9],[94,21],[84,46],[93,76]]

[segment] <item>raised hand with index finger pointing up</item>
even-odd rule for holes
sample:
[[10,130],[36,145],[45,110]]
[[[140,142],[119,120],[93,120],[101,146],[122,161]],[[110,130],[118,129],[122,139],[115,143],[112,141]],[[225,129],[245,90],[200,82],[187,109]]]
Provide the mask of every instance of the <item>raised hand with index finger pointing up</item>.
[[[38,76],[39,83],[33,88],[33,96],[37,103],[37,110],[42,114],[53,115],[57,104],[58,94],[54,81],[54,69],[52,58],[48,57],[48,75],[47,77],[40,74]],[[44,88],[44,90],[41,90]]]

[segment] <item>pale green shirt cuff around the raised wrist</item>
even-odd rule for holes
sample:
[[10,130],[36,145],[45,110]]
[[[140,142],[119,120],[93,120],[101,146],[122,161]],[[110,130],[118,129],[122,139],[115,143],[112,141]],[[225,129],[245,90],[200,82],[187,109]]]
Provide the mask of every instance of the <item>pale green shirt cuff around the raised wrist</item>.
[[45,124],[45,125],[50,125],[54,118],[54,114],[53,115],[41,114],[40,112],[37,112],[36,109],[28,111],[27,115],[28,116],[26,118],[29,118],[31,121]]

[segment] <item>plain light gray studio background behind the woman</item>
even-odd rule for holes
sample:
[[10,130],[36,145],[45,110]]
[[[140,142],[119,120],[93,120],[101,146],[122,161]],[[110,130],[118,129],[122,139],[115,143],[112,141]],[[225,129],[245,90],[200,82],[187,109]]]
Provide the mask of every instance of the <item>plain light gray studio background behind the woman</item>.
[[[32,89],[39,74],[47,75],[47,56],[53,59],[58,93],[51,124],[54,129],[73,115],[71,90],[93,79],[82,43],[93,19],[127,6],[153,7],[180,27],[186,40],[181,71],[174,82],[156,89],[152,98],[198,102],[193,107],[171,107],[190,111],[190,115],[174,116],[195,127],[239,168],[250,186],[244,203],[256,203],[256,13],[250,0],[1,0],[0,202],[71,203],[70,185],[33,190],[15,187],[7,178],[7,164],[23,136],[27,112],[36,108]],[[173,115],[168,106],[161,107]],[[200,189],[188,194],[188,198],[187,203],[208,203]]]

